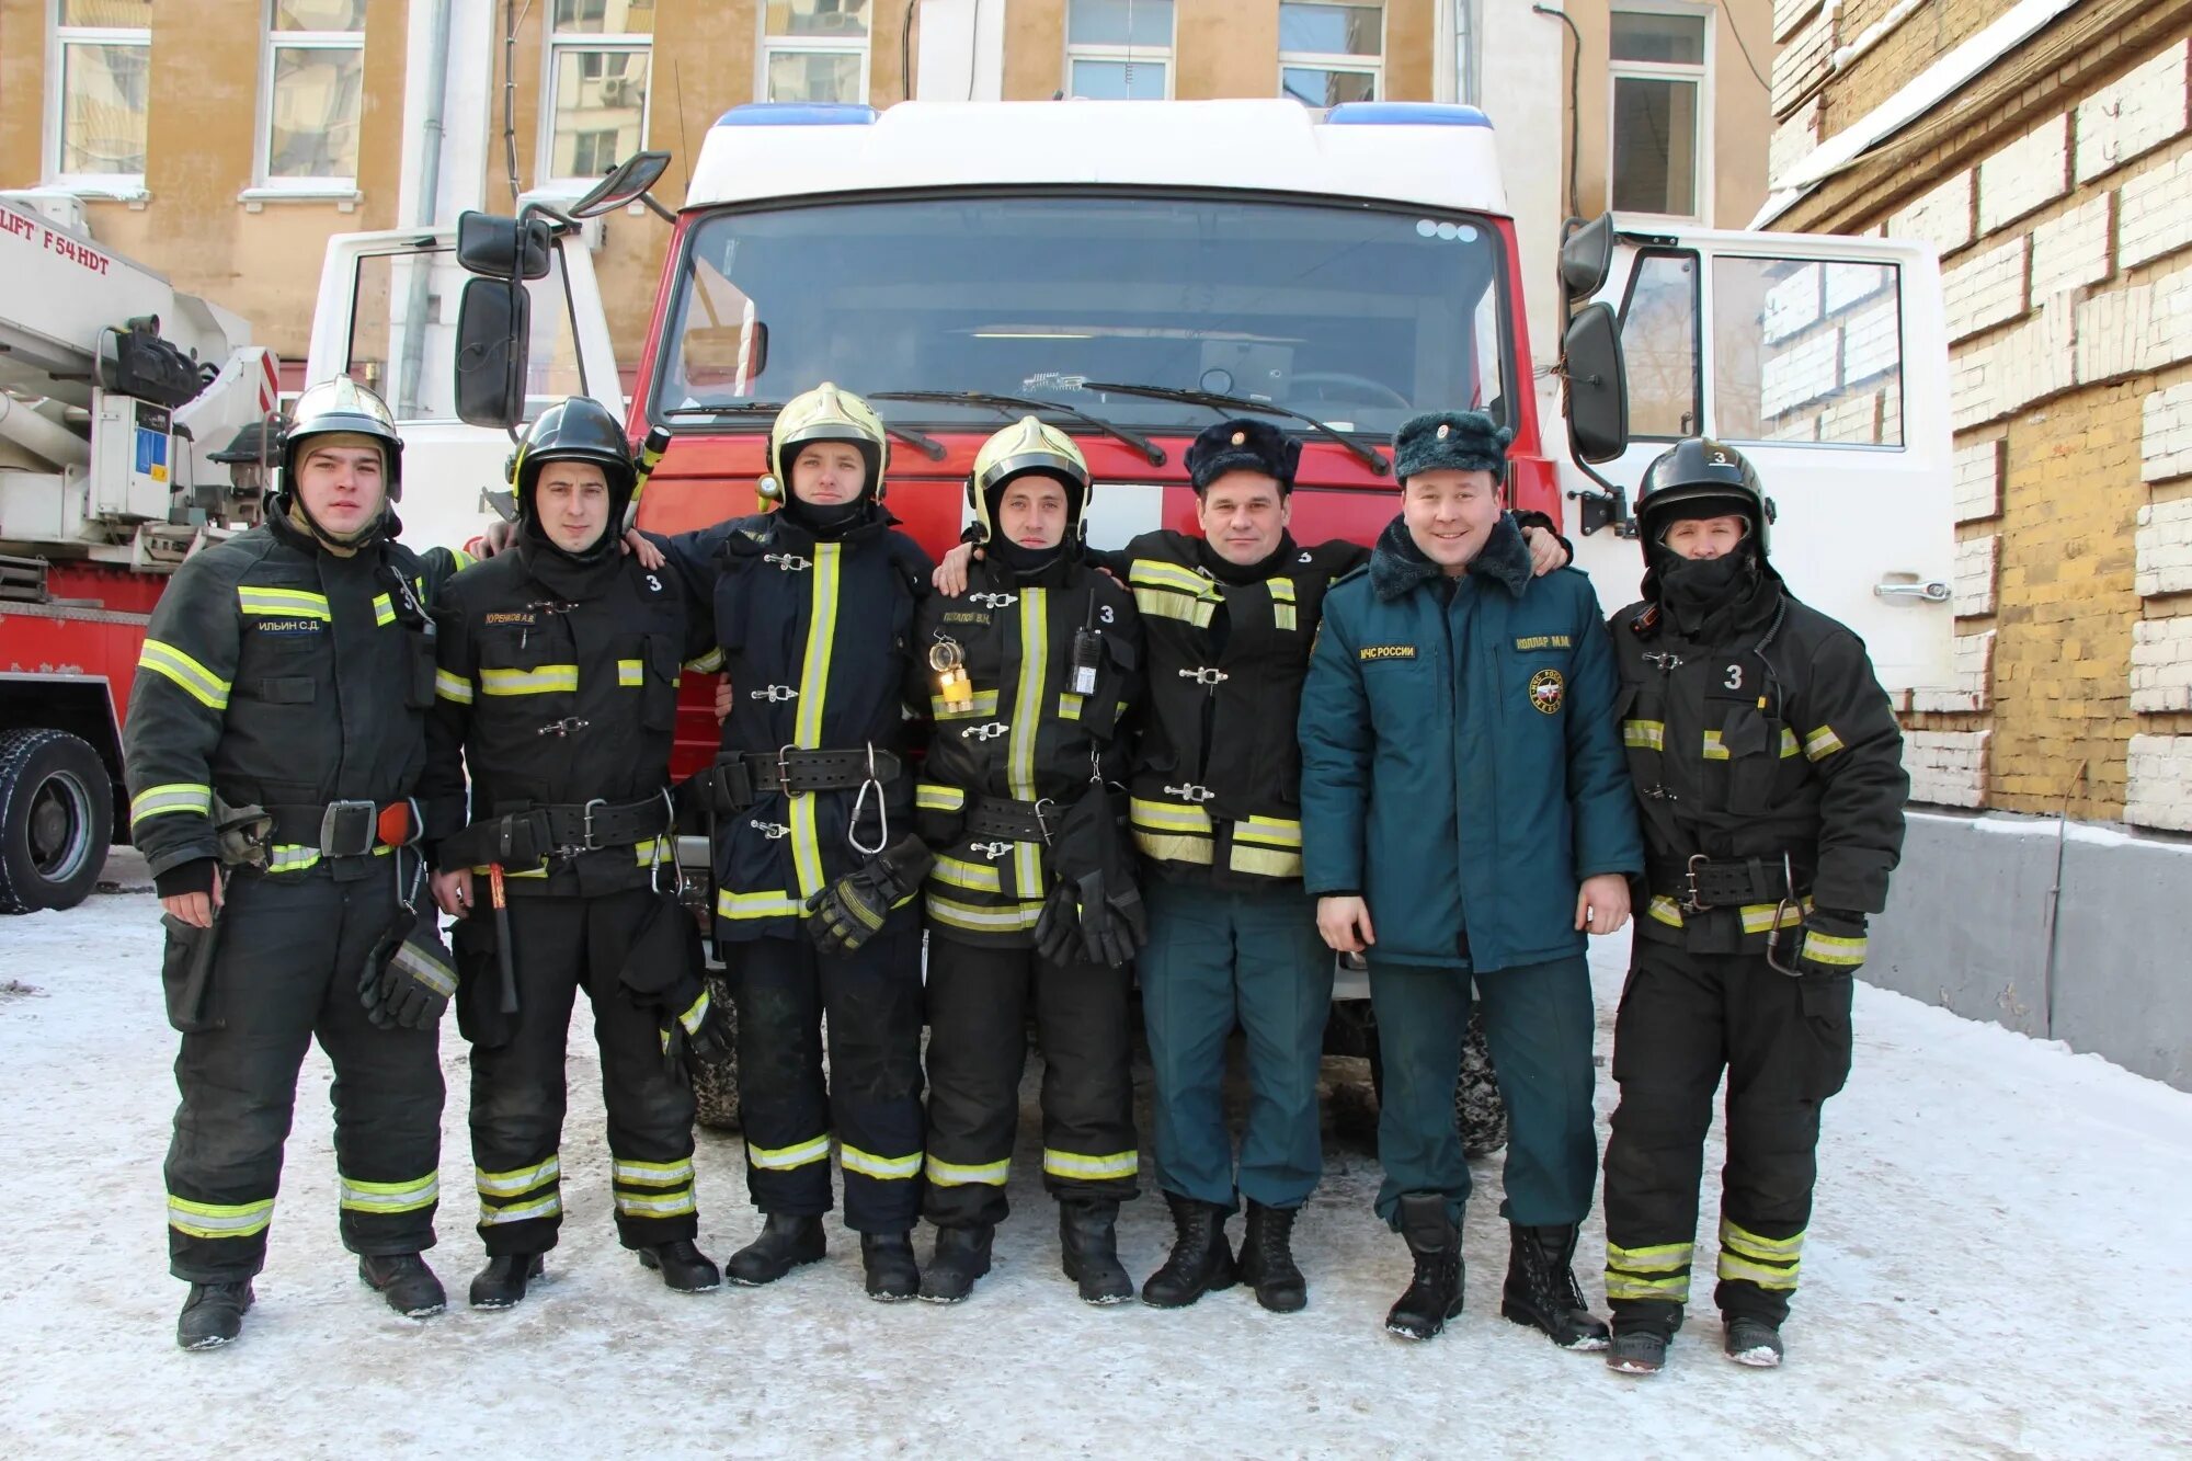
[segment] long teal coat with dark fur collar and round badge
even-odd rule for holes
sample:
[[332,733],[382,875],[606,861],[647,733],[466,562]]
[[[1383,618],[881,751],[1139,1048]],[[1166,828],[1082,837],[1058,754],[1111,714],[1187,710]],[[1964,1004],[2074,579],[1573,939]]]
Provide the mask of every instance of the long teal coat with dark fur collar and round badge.
[[1576,888],[1642,873],[1591,581],[1530,575],[1512,518],[1447,579],[1394,518],[1324,597],[1302,689],[1302,880],[1359,893],[1381,963],[1580,954]]

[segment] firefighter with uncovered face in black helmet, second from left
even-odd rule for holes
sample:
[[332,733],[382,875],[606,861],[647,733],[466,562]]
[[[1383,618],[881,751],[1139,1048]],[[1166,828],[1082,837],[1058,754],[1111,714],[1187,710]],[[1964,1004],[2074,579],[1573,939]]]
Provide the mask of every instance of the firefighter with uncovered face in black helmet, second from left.
[[557,1242],[563,1044],[581,989],[601,1046],[618,1237],[673,1290],[719,1281],[693,1246],[693,1092],[680,1066],[682,1053],[712,1051],[723,1024],[701,983],[699,930],[677,906],[671,842],[690,627],[680,586],[625,555],[633,478],[605,406],[550,406],[517,450],[509,551],[436,603],[421,790],[430,823],[463,827],[441,838],[434,895],[460,917],[458,1027],[471,1040],[487,1244],[473,1307],[524,1299]]

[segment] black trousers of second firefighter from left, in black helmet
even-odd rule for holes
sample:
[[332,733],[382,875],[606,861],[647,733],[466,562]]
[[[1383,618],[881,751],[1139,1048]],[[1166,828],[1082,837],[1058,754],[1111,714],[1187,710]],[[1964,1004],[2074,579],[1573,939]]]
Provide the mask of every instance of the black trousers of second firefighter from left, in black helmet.
[[[489,1257],[546,1253],[563,1226],[557,1154],[566,1110],[563,1044],[581,989],[594,1005],[594,1044],[601,1046],[616,1237],[627,1248],[695,1237],[693,1090],[682,1073],[664,1066],[655,1007],[633,1003],[620,978],[631,943],[662,897],[625,888],[509,902],[517,1016],[506,1044],[471,1049],[471,1163]],[[493,913],[476,908],[471,917],[491,919]],[[498,992],[491,970],[482,985],[482,994]]]

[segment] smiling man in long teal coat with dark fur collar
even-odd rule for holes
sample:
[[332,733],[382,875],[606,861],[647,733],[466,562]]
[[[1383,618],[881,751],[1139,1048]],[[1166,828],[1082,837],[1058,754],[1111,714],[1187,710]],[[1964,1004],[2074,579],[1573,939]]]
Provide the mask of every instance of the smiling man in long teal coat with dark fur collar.
[[1583,952],[1626,924],[1644,849],[1598,599],[1580,573],[1532,575],[1499,500],[1508,439],[1480,412],[1394,439],[1403,511],[1326,594],[1302,689],[1302,882],[1326,943],[1370,959],[1377,1209],[1416,1264],[1385,1327],[1425,1340],[1462,1307],[1453,1077],[1475,987],[1510,1119],[1502,1314],[1602,1349],[1572,1270],[1598,1156]]

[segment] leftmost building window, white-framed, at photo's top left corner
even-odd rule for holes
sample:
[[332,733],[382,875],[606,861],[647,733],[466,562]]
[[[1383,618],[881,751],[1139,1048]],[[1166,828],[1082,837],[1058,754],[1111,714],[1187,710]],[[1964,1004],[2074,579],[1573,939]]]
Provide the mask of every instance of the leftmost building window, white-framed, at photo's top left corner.
[[59,0],[53,18],[48,156],[55,178],[142,189],[151,0]]

